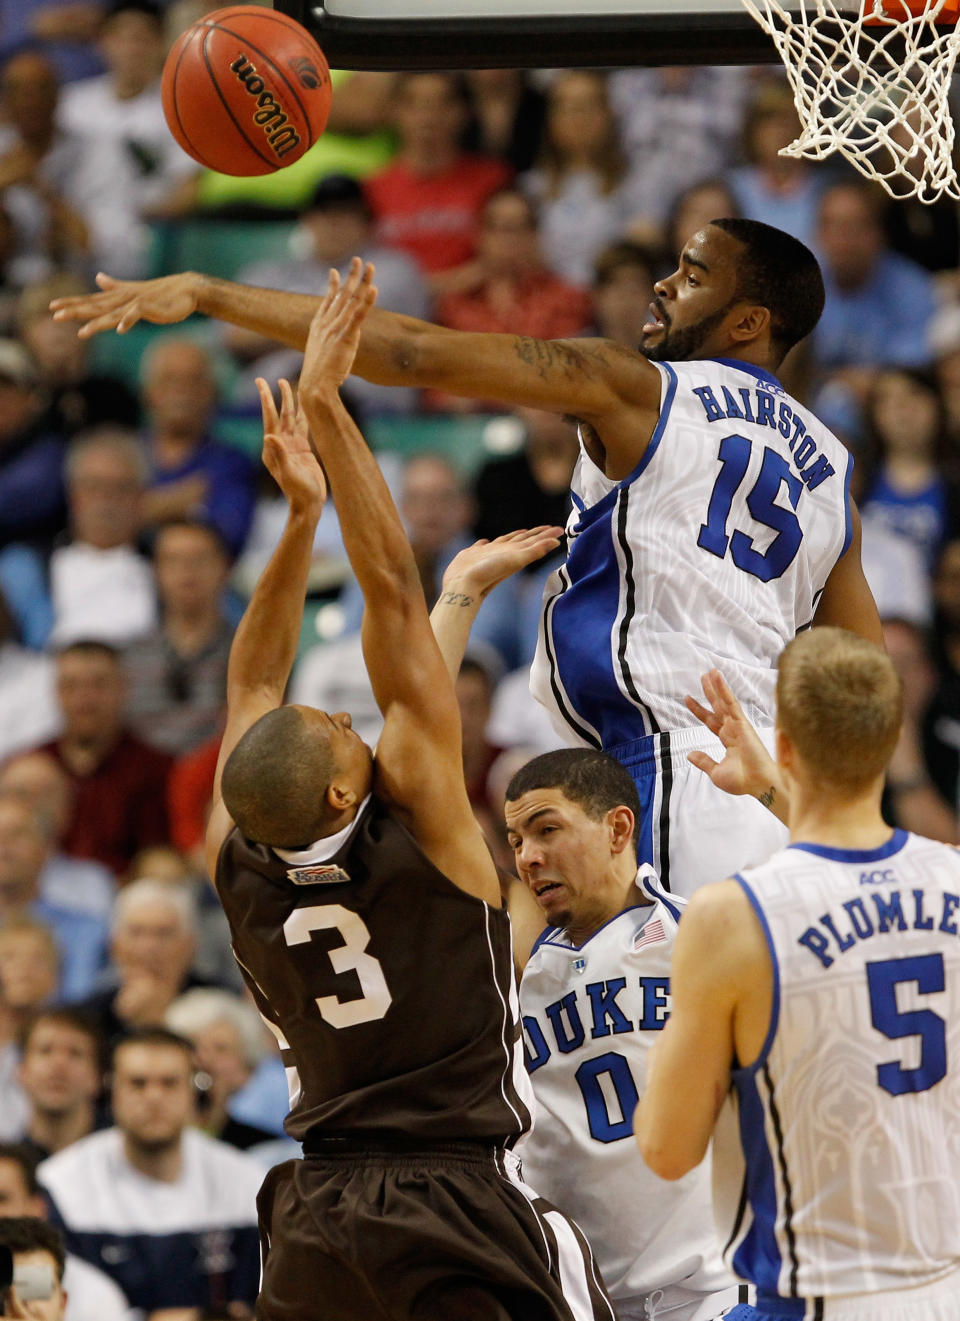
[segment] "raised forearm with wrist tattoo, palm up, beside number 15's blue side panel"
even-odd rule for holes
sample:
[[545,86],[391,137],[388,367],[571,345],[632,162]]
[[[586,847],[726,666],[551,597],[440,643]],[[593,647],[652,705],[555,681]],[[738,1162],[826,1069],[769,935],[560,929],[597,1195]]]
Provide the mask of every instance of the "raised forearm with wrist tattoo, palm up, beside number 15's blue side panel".
[[483,598],[512,573],[560,546],[563,527],[520,528],[490,542],[466,546],[446,565],[440,597],[430,612],[433,637],[452,679],[460,674],[473,621]]

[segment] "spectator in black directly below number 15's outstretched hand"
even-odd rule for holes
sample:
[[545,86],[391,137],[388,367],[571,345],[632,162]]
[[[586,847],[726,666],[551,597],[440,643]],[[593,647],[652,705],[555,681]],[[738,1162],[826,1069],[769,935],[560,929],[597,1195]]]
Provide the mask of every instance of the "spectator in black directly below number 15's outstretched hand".
[[85,288],[82,280],[63,271],[28,285],[16,303],[17,334],[33,357],[55,432],[75,436],[103,423],[136,429],[140,406],[129,386],[119,376],[94,371],[91,341],[81,339],[71,326],[50,316],[50,299],[82,293]]

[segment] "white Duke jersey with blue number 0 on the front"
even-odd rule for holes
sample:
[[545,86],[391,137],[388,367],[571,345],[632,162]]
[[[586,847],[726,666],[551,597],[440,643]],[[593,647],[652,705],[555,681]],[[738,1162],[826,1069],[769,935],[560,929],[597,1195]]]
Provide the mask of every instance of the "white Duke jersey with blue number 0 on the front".
[[544,931],[520,980],[536,1098],[533,1129],[516,1148],[524,1178],[584,1230],[623,1316],[646,1314],[655,1289],[706,1295],[734,1283],[720,1256],[709,1160],[666,1182],[634,1141],[647,1052],[669,1013],[683,904],[650,868],[636,885],[636,905],[582,946],[559,927]]

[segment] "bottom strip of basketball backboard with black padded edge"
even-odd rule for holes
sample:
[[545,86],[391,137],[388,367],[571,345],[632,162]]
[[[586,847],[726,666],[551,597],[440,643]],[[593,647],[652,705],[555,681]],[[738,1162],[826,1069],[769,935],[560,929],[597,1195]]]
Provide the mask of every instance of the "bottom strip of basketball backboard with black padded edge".
[[[803,0],[791,0],[799,8]],[[338,69],[772,63],[739,0],[273,0]]]

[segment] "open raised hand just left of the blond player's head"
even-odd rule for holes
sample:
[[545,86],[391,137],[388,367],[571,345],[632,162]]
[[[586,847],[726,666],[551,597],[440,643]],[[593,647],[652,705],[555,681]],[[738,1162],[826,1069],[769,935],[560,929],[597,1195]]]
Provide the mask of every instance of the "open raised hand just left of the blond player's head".
[[729,683],[720,670],[709,670],[700,682],[708,705],[688,696],[687,709],[720,738],[725,756],[714,761],[705,752],[688,752],[687,760],[725,794],[750,794],[787,826],[790,798],[779,766],[743,715]]

